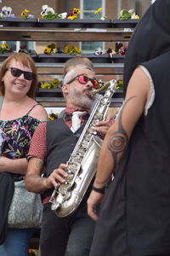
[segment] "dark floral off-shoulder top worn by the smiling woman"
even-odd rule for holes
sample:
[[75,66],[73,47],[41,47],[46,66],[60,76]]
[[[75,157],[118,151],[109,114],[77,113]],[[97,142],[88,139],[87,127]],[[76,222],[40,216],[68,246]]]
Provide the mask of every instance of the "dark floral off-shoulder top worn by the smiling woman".
[[[10,159],[26,158],[31,143],[31,137],[37,125],[42,123],[41,120],[32,118],[29,115],[32,108],[25,116],[19,119],[0,120],[0,129],[5,134],[1,155]],[[19,179],[20,177],[22,177],[20,174],[14,174],[14,179]]]

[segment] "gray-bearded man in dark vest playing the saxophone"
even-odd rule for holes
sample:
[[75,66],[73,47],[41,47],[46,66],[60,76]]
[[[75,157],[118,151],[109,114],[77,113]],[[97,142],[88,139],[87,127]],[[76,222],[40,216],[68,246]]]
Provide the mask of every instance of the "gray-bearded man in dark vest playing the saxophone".
[[[42,256],[88,256],[94,235],[94,221],[88,217],[87,199],[91,187],[77,207],[77,210],[65,218],[59,218],[51,210],[49,199],[54,188],[65,183],[68,176],[66,162],[73,151],[78,137],[87,122],[94,97],[90,91],[96,89],[99,82],[93,69],[72,67],[66,73],[62,91],[66,108],[62,118],[39,125],[31,140],[28,154],[26,189],[42,194],[43,215],[40,237]],[[80,128],[72,127],[72,116],[82,112]],[[110,123],[96,123],[94,131],[105,136]],[[43,167],[45,173],[43,174]]]

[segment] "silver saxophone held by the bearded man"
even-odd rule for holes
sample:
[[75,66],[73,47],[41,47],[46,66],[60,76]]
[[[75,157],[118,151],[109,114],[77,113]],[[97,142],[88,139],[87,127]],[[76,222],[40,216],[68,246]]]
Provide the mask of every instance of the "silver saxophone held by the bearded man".
[[111,80],[99,90],[92,90],[90,93],[91,96],[94,96],[105,88],[107,88],[105,95],[98,95],[88,122],[67,162],[68,168],[66,172],[68,176],[65,183],[54,189],[51,195],[51,209],[58,217],[68,216],[77,209],[96,172],[103,140],[92,128],[96,122],[105,119],[105,114],[111,103],[111,97],[115,92],[116,80]]

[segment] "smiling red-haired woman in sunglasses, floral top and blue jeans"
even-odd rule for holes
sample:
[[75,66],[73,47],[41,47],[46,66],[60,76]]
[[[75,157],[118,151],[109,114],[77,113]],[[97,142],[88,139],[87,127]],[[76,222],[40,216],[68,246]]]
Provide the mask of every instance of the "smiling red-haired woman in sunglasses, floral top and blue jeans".
[[[25,177],[26,154],[31,137],[37,125],[48,120],[45,109],[35,101],[36,90],[36,67],[29,55],[13,54],[3,61],[0,72],[0,92],[3,96],[0,129],[5,134],[5,141],[0,157],[0,176],[10,173],[14,181]],[[2,186],[3,184],[0,187]],[[7,191],[1,191],[1,195],[5,196],[6,193]],[[0,203],[1,200],[2,197]],[[4,213],[3,209],[3,218],[8,216],[8,209],[5,210]],[[22,212],[20,216],[21,214]],[[7,227],[7,221],[4,225]],[[0,231],[0,255],[27,256],[33,229],[6,230],[1,227]]]

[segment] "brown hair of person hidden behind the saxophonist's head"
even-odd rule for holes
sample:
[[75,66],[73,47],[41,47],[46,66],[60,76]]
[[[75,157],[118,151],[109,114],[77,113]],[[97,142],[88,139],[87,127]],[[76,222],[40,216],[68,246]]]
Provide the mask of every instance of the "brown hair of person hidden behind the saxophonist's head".
[[66,73],[68,73],[71,67],[76,67],[81,65],[85,67],[90,67],[91,69],[94,70],[94,65],[92,61],[90,61],[88,58],[83,56],[76,56],[65,62],[64,76]]

